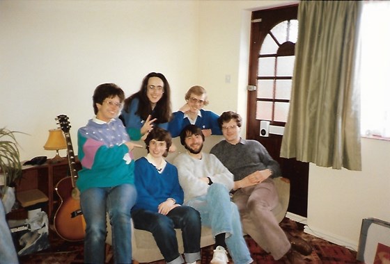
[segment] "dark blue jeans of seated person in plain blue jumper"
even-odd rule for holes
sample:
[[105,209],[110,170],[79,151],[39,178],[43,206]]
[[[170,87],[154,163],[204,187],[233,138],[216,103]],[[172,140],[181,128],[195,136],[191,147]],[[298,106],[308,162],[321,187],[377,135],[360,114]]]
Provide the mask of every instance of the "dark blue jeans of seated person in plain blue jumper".
[[135,229],[149,231],[166,263],[182,264],[175,229],[182,230],[185,261],[192,263],[201,259],[201,216],[189,206],[173,208],[167,215],[139,209],[132,212]]

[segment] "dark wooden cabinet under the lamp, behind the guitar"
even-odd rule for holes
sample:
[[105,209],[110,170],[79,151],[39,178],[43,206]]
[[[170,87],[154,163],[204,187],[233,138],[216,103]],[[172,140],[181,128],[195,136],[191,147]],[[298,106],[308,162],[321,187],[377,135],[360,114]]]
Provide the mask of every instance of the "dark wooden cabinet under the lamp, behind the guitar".
[[[47,160],[47,163],[43,165],[23,166],[22,177],[15,186],[16,199],[20,192],[34,189],[42,191],[48,198],[42,210],[47,213],[49,220],[52,220],[61,202],[55,187],[61,179],[70,175],[68,172],[68,158],[63,158],[59,163],[50,163],[50,160]],[[7,218],[26,219],[27,211],[22,207],[17,208],[8,213]]]

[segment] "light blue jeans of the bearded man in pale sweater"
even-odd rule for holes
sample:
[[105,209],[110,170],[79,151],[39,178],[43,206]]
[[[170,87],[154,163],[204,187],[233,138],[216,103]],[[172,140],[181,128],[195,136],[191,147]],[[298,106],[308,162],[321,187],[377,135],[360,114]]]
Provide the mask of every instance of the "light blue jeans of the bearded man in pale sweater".
[[226,233],[226,246],[234,263],[248,264],[253,260],[247,242],[242,236],[240,214],[231,201],[228,189],[221,183],[212,183],[205,196],[185,203],[201,213],[203,226],[211,226],[212,236]]

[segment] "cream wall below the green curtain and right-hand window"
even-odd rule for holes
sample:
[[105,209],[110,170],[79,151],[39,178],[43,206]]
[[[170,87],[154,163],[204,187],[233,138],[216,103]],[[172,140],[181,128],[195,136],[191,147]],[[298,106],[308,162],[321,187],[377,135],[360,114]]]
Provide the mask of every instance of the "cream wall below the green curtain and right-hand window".
[[390,141],[361,139],[361,172],[310,165],[306,231],[357,249],[361,220],[390,222]]

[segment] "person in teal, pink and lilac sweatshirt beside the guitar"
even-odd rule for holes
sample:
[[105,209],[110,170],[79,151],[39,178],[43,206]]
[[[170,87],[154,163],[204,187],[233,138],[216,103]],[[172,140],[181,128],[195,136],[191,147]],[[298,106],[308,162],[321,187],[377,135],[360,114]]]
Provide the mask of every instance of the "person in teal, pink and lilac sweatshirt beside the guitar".
[[112,226],[114,260],[132,263],[130,211],[137,199],[132,149],[118,119],[125,93],[114,83],[103,83],[93,93],[95,117],[77,132],[82,168],[76,185],[86,222],[84,262],[104,263],[106,215]]

